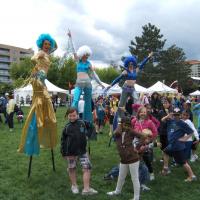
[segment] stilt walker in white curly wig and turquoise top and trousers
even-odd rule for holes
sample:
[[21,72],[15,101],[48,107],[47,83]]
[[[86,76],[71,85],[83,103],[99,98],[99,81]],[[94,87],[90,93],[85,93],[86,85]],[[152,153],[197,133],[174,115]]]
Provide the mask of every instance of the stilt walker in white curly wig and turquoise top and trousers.
[[89,56],[92,54],[90,47],[84,45],[81,46],[77,53],[75,52],[74,45],[72,42],[72,36],[69,31],[69,39],[71,41],[71,46],[74,53],[74,58],[76,59],[76,70],[77,70],[77,79],[76,86],[74,89],[74,98],[72,106],[78,109],[78,102],[82,92],[84,92],[84,113],[83,120],[88,122],[93,122],[92,116],[92,84],[91,78],[96,80],[96,82],[104,88],[102,82],[100,81],[98,75],[95,73],[94,68],[92,67],[90,61],[88,61]]

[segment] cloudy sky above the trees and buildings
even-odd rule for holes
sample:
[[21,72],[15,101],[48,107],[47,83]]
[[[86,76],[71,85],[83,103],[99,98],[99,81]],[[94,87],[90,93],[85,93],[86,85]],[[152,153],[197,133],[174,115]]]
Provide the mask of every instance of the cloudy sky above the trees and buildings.
[[199,0],[0,0],[0,43],[37,50],[40,33],[76,48],[89,45],[91,59],[109,63],[129,54],[128,45],[147,23],[161,29],[166,47],[176,44],[188,59],[200,60]]

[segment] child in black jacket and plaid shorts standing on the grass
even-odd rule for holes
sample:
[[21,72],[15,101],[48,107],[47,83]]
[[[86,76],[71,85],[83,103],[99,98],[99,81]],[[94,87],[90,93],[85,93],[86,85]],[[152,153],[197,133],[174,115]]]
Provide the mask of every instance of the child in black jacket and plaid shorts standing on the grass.
[[90,187],[91,163],[86,152],[87,128],[84,121],[78,119],[75,108],[69,108],[69,122],[66,124],[61,138],[61,154],[68,162],[68,173],[71,181],[72,193],[78,194],[79,189],[76,180],[76,164],[79,158],[83,169],[83,191],[82,195],[93,195],[98,192]]

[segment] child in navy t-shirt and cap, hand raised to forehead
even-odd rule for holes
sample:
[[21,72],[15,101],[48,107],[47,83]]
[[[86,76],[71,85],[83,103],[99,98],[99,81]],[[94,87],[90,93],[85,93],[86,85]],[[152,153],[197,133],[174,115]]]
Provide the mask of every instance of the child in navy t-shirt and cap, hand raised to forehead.
[[183,165],[188,173],[188,178],[185,179],[185,182],[191,182],[196,180],[196,176],[186,159],[185,142],[191,137],[193,130],[185,122],[180,120],[180,115],[180,109],[174,108],[173,113],[168,114],[164,118],[167,122],[167,139],[169,143],[164,151],[172,156],[177,164]]

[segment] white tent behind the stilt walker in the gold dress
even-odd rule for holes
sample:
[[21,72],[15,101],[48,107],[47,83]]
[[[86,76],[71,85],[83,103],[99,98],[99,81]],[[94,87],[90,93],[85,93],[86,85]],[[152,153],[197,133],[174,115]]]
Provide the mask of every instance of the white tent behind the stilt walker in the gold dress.
[[[45,79],[45,84],[46,84],[48,92],[50,93],[53,93],[53,94],[55,93],[68,94],[69,93],[68,90],[64,90],[62,88],[55,86],[54,84],[49,82],[47,79]],[[33,88],[31,84],[23,88],[18,88],[14,90],[14,99],[17,103],[19,103],[20,100],[23,98],[25,105],[28,105],[32,96],[33,96]]]

